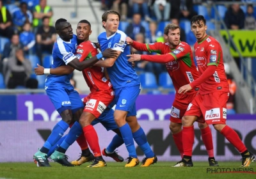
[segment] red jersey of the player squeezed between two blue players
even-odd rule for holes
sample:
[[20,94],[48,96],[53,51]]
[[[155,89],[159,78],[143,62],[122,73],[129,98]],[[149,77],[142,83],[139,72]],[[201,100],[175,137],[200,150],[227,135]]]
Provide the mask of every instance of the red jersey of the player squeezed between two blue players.
[[[97,48],[89,40],[82,42],[76,49],[76,56],[79,61],[90,59],[98,54]],[[100,66],[91,66],[83,70],[84,80],[93,93],[99,90],[107,90],[112,88],[112,84],[104,76],[104,70]]]

